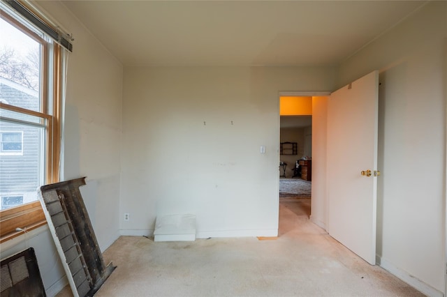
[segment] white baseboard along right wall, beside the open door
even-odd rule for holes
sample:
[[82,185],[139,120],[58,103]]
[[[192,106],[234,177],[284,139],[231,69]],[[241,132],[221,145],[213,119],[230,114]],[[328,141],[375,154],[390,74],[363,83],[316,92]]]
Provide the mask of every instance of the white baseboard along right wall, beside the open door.
[[429,284],[425,284],[425,282],[423,282],[422,280],[418,280],[413,275],[396,267],[389,261],[386,261],[386,259],[376,256],[376,263],[381,266],[381,268],[400,278],[415,289],[418,289],[423,294],[431,297],[444,297],[444,293],[442,293],[441,291],[434,289],[434,287],[430,286]]

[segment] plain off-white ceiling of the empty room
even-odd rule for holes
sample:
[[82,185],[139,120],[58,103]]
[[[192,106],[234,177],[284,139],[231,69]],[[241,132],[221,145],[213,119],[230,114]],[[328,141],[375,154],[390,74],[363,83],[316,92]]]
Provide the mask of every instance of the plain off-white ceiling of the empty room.
[[337,66],[424,3],[64,1],[124,66]]

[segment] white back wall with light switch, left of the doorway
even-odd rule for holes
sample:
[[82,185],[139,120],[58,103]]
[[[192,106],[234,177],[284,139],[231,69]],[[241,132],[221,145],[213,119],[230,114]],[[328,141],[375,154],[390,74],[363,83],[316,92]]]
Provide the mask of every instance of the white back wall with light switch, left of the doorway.
[[152,234],[157,215],[194,213],[201,238],[276,235],[279,91],[327,91],[332,75],[332,68],[125,68],[122,234]]

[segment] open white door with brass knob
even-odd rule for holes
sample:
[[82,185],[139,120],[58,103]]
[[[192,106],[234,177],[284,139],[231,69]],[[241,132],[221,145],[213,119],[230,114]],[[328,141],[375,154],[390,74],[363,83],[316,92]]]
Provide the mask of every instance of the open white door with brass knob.
[[[328,232],[376,264],[379,72],[328,98]],[[362,171],[371,176],[362,176]]]

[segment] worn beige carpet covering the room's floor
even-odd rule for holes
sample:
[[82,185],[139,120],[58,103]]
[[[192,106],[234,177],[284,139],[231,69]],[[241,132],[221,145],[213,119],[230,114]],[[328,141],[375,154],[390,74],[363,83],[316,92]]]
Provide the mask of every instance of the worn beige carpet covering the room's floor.
[[277,240],[121,237],[104,253],[117,269],[96,296],[423,296],[309,222],[309,211],[310,199],[281,199]]

